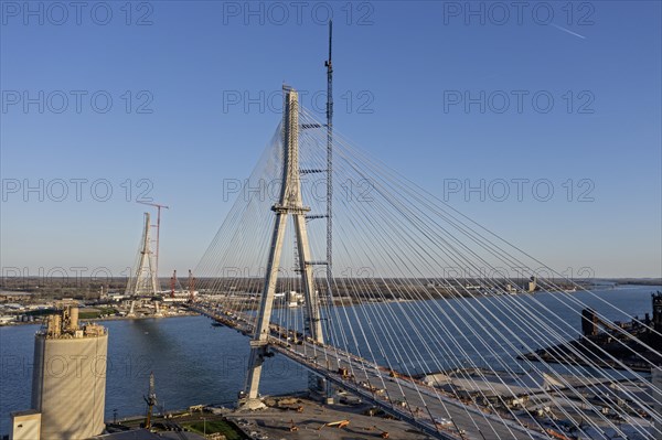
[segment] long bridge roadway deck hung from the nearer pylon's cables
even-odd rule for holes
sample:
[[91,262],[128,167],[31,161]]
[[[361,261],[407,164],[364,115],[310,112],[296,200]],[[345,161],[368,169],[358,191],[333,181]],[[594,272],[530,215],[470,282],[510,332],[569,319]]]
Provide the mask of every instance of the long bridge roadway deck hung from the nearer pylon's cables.
[[[247,336],[253,334],[248,315],[233,311],[228,312],[232,315],[229,318],[213,302],[189,304],[189,309]],[[541,431],[526,429],[515,420],[495,414],[487,414],[476,405],[463,404],[423,383],[391,377],[384,368],[334,346],[321,346],[310,340],[289,344],[269,335],[269,347],[434,438],[548,439]],[[339,365],[348,369],[349,377],[339,373]]]

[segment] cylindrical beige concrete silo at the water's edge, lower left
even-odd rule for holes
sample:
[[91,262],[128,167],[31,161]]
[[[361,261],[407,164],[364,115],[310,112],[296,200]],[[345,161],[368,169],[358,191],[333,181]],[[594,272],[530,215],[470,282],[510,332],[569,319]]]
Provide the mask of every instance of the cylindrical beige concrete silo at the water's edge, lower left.
[[78,325],[78,309],[49,318],[34,341],[32,408],[41,412],[41,438],[86,439],[104,431],[108,334]]

